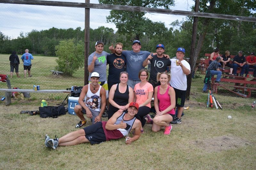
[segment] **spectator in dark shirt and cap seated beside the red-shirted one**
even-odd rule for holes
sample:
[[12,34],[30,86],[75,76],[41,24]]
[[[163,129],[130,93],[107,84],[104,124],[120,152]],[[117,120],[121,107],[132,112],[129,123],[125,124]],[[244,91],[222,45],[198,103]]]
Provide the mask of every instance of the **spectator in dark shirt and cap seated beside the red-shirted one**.
[[236,55],[233,59],[233,68],[234,68],[234,75],[236,76],[236,70],[238,67],[241,67],[242,70],[240,72],[240,76],[244,77],[244,70],[246,67],[246,60],[245,57],[243,55],[243,51],[239,51],[238,55]]

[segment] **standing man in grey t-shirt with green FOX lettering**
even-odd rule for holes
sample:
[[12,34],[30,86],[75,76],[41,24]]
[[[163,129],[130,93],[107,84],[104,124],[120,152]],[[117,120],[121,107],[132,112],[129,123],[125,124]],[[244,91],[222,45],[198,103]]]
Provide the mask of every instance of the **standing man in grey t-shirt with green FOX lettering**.
[[106,97],[108,99],[108,82],[107,82],[107,53],[103,51],[104,43],[102,41],[97,41],[95,44],[96,51],[93,52],[88,57],[88,71],[89,74],[89,82],[92,72],[97,72],[100,74],[99,84],[106,90]]

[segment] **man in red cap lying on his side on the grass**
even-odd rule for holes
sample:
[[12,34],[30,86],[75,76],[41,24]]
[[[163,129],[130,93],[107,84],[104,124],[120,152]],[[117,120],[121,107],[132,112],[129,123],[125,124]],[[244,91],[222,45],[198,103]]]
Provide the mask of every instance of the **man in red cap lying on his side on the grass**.
[[126,144],[131,144],[140,137],[140,120],[135,115],[138,112],[138,103],[131,102],[128,107],[128,113],[117,111],[108,122],[96,122],[83,129],[68,133],[67,135],[50,139],[45,136],[45,146],[56,149],[58,146],[71,146],[82,143],[100,144],[102,142],[118,139],[126,136],[134,129],[133,137],[126,140]]

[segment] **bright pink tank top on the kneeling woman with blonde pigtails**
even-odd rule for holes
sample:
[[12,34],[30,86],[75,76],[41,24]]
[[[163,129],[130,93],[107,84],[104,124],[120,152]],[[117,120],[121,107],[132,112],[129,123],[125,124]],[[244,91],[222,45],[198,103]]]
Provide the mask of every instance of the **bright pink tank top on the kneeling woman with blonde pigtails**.
[[[160,94],[159,90],[160,90],[160,85],[157,86],[157,99],[159,101],[158,106],[159,106],[159,111],[163,111],[165,110],[167,107],[169,107],[171,105],[171,99],[170,99],[170,95],[169,95],[169,88],[171,86],[168,86],[166,92],[164,94]],[[175,111],[174,109],[170,110],[169,112],[167,112],[168,114],[172,114],[175,115]]]

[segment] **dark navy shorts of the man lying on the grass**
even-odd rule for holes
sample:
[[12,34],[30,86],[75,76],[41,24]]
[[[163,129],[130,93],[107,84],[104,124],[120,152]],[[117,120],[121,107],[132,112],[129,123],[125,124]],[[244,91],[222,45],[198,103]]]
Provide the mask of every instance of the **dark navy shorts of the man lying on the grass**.
[[91,144],[100,144],[106,141],[106,135],[102,128],[102,122],[97,122],[83,129],[86,139],[88,139]]

